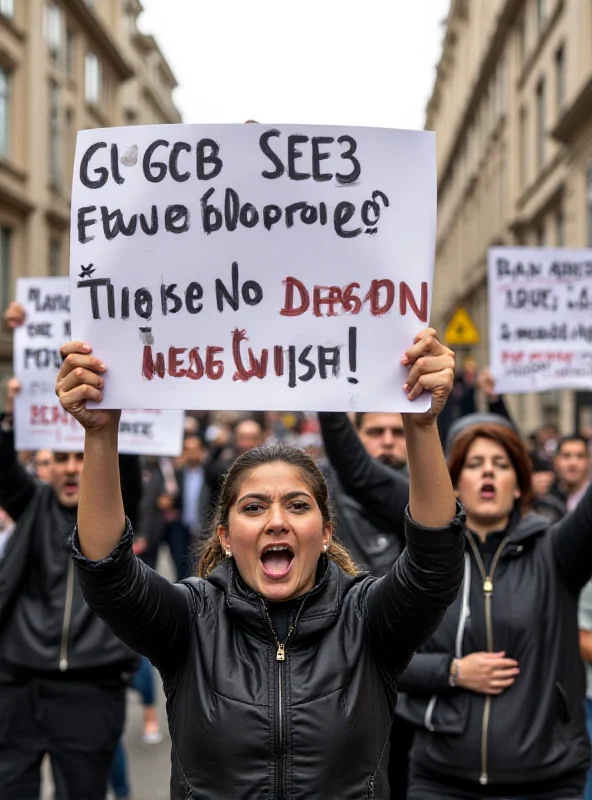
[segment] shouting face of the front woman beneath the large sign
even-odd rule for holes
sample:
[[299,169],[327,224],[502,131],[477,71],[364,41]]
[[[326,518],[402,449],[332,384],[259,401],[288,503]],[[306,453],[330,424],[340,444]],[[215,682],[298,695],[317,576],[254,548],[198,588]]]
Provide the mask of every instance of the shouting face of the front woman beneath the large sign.
[[315,585],[319,556],[331,540],[314,495],[289,464],[250,470],[219,528],[243,580],[267,600],[300,597]]

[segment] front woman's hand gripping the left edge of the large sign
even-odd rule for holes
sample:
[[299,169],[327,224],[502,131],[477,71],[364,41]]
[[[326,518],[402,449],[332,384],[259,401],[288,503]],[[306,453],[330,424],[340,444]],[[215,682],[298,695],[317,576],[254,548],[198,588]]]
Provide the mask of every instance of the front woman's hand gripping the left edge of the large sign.
[[86,401],[100,402],[107,367],[94,358],[90,345],[66,342],[60,348],[63,364],[56,380],[56,394],[62,406],[87,431],[117,430],[121,411],[87,408]]

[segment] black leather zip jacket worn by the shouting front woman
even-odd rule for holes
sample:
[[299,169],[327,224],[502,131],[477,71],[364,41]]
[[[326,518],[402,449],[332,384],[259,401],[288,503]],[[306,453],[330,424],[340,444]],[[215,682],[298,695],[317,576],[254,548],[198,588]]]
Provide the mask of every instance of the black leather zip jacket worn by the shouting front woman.
[[406,528],[385,578],[352,578],[322,557],[285,660],[233,561],[171,585],[133,556],[129,527],[103,561],[75,550],[89,605],[163,677],[173,800],[388,797],[393,677],[439,624],[463,566],[460,517]]

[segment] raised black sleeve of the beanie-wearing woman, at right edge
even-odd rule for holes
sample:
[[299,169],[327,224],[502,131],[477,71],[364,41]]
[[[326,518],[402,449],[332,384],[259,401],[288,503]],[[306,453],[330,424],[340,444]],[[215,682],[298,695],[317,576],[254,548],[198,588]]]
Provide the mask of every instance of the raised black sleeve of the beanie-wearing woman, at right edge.
[[592,577],[592,483],[577,507],[551,528],[559,572],[573,594]]

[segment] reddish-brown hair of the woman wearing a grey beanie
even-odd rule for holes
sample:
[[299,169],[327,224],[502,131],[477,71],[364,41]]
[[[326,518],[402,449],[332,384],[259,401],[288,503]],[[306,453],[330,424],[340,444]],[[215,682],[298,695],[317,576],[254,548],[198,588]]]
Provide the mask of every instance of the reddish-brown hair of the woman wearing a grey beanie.
[[476,439],[489,439],[501,445],[516,472],[520,497],[516,505],[522,513],[526,512],[533,500],[532,470],[528,451],[518,434],[504,425],[471,425],[452,442],[448,469],[453,486],[456,486],[460,473],[467,460],[467,454]]

